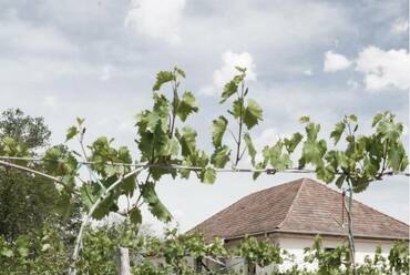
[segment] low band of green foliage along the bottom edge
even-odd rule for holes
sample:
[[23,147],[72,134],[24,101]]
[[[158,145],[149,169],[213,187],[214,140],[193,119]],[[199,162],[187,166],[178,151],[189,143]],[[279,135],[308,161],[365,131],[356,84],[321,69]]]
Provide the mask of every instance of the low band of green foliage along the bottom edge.
[[[55,227],[43,227],[37,232],[19,236],[13,242],[0,238],[0,274],[65,274],[70,264],[71,246],[62,242],[65,234]],[[279,248],[268,238],[244,238],[234,249],[226,249],[221,240],[207,242],[202,235],[181,235],[176,230],[167,230],[164,237],[146,235],[137,225],[124,223],[91,227],[84,235],[84,248],[78,264],[79,274],[116,274],[116,248],[126,247],[131,253],[131,267],[134,275],[197,274],[192,259],[237,257],[244,263],[259,267],[283,263],[291,268],[275,268],[274,275],[349,275],[347,268],[349,249],[340,245],[327,251],[317,237],[305,249],[305,264],[316,264],[317,269],[295,264],[288,252]],[[365,264],[357,266],[358,275],[409,274],[409,247],[397,243],[388,257],[377,248],[375,256],[367,257]],[[203,262],[206,266],[206,262]],[[221,268],[203,268],[204,274],[237,274]]]

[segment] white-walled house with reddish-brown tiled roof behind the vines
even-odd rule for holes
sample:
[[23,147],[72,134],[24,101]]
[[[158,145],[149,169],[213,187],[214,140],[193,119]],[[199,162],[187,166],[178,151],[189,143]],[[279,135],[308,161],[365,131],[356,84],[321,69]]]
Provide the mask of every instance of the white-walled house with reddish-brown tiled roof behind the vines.
[[[311,246],[316,235],[329,249],[346,242],[344,201],[341,193],[325,184],[300,179],[247,195],[189,232],[202,233],[206,240],[221,237],[226,247],[236,246],[245,235],[268,237],[303,265],[304,248]],[[357,201],[352,220],[357,263],[363,263],[377,246],[386,256],[394,241],[409,240],[408,224]],[[256,274],[268,272],[260,269]]]

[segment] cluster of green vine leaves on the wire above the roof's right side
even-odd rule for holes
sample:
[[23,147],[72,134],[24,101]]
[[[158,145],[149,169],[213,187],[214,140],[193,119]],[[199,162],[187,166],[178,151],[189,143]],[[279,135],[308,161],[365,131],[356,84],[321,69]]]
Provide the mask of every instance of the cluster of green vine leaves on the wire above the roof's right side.
[[[356,115],[346,115],[330,133],[335,146],[330,147],[324,139],[319,140],[320,124],[301,120],[306,124],[306,140],[299,167],[311,164],[318,179],[341,187],[351,183],[353,192],[362,192],[370,182],[382,179],[387,171],[401,172],[408,166],[408,157],[401,142],[403,125],[396,122],[391,112],[382,112],[373,118],[370,134],[358,134]],[[336,145],[345,136],[344,150]]]

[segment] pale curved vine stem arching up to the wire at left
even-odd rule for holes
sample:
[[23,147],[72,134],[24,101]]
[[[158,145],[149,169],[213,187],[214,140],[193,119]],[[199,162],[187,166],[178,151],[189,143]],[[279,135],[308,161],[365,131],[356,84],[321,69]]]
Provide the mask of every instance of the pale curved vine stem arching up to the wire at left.
[[111,191],[113,191],[117,185],[120,185],[120,183],[122,183],[124,180],[129,179],[130,176],[133,176],[136,173],[140,173],[141,171],[142,171],[142,169],[135,169],[135,170],[131,171],[130,173],[125,174],[124,176],[122,176],[121,179],[119,179],[110,187],[107,187],[104,191],[104,193],[99,197],[99,200],[96,200],[95,203],[91,206],[89,213],[84,217],[84,221],[81,223],[79,234],[76,235],[76,238],[75,238],[75,246],[74,246],[74,251],[73,251],[73,254],[72,254],[72,257],[71,257],[69,275],[75,275],[76,274],[75,265],[76,265],[76,261],[79,259],[80,246],[81,246],[82,238],[83,238],[83,235],[84,235],[84,230],[85,230],[86,225],[89,224],[89,222],[91,220],[91,216],[94,214],[96,207],[102,202],[105,201],[105,198],[110,195]]

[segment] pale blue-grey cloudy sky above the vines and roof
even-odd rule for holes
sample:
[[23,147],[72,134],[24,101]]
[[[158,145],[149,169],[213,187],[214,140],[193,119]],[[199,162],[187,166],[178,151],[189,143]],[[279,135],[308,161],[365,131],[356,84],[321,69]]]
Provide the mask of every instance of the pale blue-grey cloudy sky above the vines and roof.
[[[218,96],[240,65],[264,109],[253,132],[259,147],[300,131],[301,115],[326,133],[356,113],[366,132],[385,110],[404,123],[408,140],[408,14],[406,0],[0,0],[0,110],[43,116],[52,143],[85,118],[89,142],[107,135],[135,152],[134,115],[151,106],[155,73],[178,65],[187,74],[183,89],[201,103],[188,123],[211,150],[212,119],[226,111]],[[157,192],[186,231],[298,177],[223,174],[214,185],[164,179]],[[406,177],[376,182],[356,198],[409,222]]]

